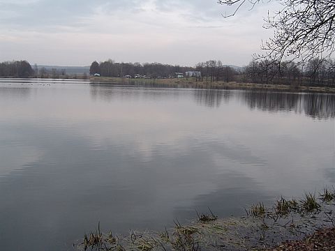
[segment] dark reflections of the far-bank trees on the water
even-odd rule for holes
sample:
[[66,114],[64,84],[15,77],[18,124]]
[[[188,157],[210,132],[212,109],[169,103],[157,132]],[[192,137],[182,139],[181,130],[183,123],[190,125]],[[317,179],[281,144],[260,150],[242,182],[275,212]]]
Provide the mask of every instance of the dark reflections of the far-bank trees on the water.
[[[126,87],[124,87],[126,88]],[[147,91],[144,91],[147,90]],[[148,92],[150,90],[150,92]],[[170,91],[169,91],[170,90]],[[184,92],[187,89],[184,89]],[[156,100],[174,96],[178,98],[183,89],[163,89],[156,87],[138,87],[137,92],[120,89],[108,84],[90,84],[92,99],[105,101],[117,97],[139,98],[150,96]],[[335,117],[335,95],[325,93],[288,93],[270,91],[231,91],[217,89],[193,89],[193,97],[198,105],[206,107],[220,107],[222,102],[228,104],[232,98],[241,100],[250,109],[265,112],[295,112],[304,113],[316,119],[333,119]],[[145,97],[144,97],[145,98]]]

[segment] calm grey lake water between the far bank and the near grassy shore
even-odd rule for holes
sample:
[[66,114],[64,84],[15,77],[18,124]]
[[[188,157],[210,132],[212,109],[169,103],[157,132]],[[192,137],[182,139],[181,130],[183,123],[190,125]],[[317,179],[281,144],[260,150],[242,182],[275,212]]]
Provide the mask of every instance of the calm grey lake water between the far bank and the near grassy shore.
[[335,183],[335,96],[0,79],[1,250],[72,250]]

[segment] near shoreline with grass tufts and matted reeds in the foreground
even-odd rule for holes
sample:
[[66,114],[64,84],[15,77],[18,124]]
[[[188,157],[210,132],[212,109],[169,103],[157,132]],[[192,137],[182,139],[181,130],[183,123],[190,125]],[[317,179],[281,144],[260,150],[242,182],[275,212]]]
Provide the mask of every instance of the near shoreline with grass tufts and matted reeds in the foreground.
[[[209,212],[189,224],[174,222],[161,232],[130,231],[129,236],[96,231],[74,244],[75,250],[306,250],[322,242],[334,248],[335,190],[306,194],[302,199],[278,199],[270,208],[255,204],[240,218],[218,219]],[[328,238],[323,238],[328,236]],[[311,241],[312,240],[312,241]],[[312,243],[312,244],[311,244]],[[301,248],[302,247],[302,248]],[[290,248],[290,249],[288,249]],[[308,249],[309,250],[309,249]],[[314,249],[311,249],[314,250]],[[320,249],[315,249],[320,250]],[[323,249],[321,249],[323,250]],[[326,249],[327,250],[327,249]]]

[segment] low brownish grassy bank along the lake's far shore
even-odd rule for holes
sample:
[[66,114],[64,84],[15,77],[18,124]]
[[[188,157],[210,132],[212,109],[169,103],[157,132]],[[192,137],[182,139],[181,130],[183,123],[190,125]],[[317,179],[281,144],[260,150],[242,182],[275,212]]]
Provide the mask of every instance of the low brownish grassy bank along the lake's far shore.
[[290,92],[318,92],[335,93],[335,86],[291,86],[288,84],[254,84],[243,82],[197,81],[193,78],[171,79],[133,79],[125,77],[90,77],[90,81],[101,84],[131,84],[143,86],[162,86],[174,88],[195,89],[243,89],[256,91],[290,91]]

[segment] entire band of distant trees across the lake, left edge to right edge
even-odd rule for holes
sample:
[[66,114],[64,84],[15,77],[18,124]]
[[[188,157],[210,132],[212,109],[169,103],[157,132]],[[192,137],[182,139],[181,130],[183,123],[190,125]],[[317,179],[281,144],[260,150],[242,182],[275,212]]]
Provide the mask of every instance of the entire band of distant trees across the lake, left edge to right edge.
[[[221,61],[209,60],[194,67],[172,66],[163,63],[117,63],[107,60],[94,61],[89,68],[90,75],[102,77],[174,78],[185,76],[186,71],[198,71],[200,82],[244,82],[255,84],[289,84],[291,86],[335,86],[335,60],[312,59],[305,66],[292,61],[280,64],[271,61],[251,61],[243,68],[226,66]],[[6,61],[0,63],[0,77],[41,78],[88,78],[86,73],[70,74],[66,69],[38,66],[31,67],[27,61]],[[185,76],[186,77],[186,76]]]

